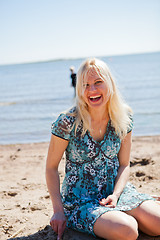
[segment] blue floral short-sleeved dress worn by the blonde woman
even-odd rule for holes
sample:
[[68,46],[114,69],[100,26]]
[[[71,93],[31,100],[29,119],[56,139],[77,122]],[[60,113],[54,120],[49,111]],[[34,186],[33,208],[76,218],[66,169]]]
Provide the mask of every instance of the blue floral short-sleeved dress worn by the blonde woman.
[[[93,226],[102,214],[108,211],[128,211],[153,198],[138,193],[132,184],[127,183],[115,208],[101,206],[99,200],[112,194],[114,189],[121,140],[110,120],[101,142],[95,141],[88,131],[81,137],[82,124],[75,136],[74,122],[75,117],[60,114],[52,124],[52,134],[68,141],[61,197],[67,226],[95,236]],[[131,130],[132,126],[128,132]]]

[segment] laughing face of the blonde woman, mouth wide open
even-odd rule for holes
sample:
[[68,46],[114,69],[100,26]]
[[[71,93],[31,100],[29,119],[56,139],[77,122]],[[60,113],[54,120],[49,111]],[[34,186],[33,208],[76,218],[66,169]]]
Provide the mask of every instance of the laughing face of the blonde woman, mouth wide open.
[[106,108],[109,99],[107,84],[95,70],[91,74],[88,74],[88,77],[84,81],[84,89],[83,98],[89,109],[102,106]]

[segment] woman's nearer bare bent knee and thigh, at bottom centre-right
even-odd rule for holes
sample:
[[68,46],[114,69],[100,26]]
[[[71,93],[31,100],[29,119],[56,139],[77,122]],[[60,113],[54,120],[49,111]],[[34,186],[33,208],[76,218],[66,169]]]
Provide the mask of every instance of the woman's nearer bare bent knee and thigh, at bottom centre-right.
[[109,211],[96,220],[94,233],[107,240],[136,240],[138,224],[132,216],[124,212]]

